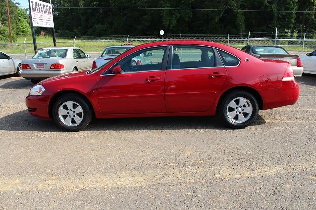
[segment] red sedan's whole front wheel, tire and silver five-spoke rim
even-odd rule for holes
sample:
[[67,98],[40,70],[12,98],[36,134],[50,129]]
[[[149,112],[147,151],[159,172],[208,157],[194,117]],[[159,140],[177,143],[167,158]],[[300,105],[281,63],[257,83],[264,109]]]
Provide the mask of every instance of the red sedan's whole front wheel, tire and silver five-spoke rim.
[[92,111],[80,96],[66,94],[54,104],[53,119],[65,131],[81,131],[91,122]]

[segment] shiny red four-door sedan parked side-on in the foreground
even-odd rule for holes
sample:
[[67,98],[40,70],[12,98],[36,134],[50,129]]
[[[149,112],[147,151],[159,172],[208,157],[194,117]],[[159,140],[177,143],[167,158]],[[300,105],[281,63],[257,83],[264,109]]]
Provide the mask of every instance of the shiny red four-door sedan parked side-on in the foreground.
[[258,110],[295,104],[292,66],[207,41],[136,46],[105,65],[40,82],[26,106],[67,131],[96,118],[211,116],[245,128]]

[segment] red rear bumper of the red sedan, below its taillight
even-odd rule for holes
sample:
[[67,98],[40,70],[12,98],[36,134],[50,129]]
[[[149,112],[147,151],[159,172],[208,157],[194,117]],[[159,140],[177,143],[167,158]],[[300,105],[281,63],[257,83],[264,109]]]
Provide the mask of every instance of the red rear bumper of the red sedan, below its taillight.
[[300,88],[294,81],[282,82],[280,88],[260,90],[263,96],[263,110],[293,105],[297,102]]

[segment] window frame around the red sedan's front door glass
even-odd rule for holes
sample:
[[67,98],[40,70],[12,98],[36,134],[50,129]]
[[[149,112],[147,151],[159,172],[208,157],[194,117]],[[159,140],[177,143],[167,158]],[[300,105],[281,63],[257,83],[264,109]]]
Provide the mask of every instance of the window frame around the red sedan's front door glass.
[[[136,50],[135,52],[132,52],[131,54],[127,55],[130,56],[134,53],[137,53],[139,51],[145,50],[145,49],[150,49],[150,48],[159,48],[159,47],[166,47],[164,56],[162,58],[162,69],[161,70],[146,70],[146,71],[135,71],[135,72],[122,72],[120,74],[129,74],[129,73],[141,73],[141,72],[153,72],[153,71],[166,71],[167,69],[167,64],[168,64],[168,57],[169,57],[169,49],[170,49],[170,45],[160,45],[160,46],[152,46],[152,47],[147,47],[147,48],[143,48],[143,49],[139,49]],[[121,60],[123,60],[124,58],[126,58],[127,56],[121,58],[120,60],[118,60],[117,62],[115,62],[111,67],[109,67],[107,70],[105,70],[100,76],[107,76],[107,75],[117,75],[117,74],[113,74],[113,73],[109,73],[106,74],[112,67],[118,65],[118,62],[120,62]]]

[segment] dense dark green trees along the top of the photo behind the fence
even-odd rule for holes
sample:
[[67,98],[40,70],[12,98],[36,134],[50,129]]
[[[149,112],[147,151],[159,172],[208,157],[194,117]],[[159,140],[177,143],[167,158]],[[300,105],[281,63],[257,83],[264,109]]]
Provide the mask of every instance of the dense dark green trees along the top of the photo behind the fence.
[[[25,10],[17,8],[13,0],[9,1],[12,5],[10,12],[15,34],[30,33],[26,29],[20,30],[21,25],[29,23],[27,15],[25,16],[26,12],[22,14]],[[43,1],[49,2],[49,0]],[[59,37],[158,35],[160,29],[164,29],[165,34],[230,33],[242,36],[248,31],[273,32],[276,27],[279,31],[288,32],[289,35],[296,35],[295,32],[308,32],[316,36],[316,0],[51,0],[51,2],[55,31]],[[7,22],[6,7],[2,4],[5,4],[4,0],[0,1],[2,25],[0,27],[3,30]],[[122,9],[123,7],[125,9]],[[192,8],[201,10],[190,10]],[[45,28],[37,28],[36,32],[39,34],[41,30],[51,32]]]

